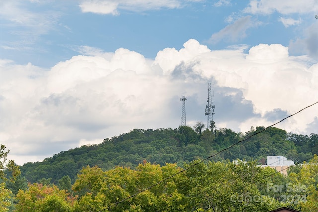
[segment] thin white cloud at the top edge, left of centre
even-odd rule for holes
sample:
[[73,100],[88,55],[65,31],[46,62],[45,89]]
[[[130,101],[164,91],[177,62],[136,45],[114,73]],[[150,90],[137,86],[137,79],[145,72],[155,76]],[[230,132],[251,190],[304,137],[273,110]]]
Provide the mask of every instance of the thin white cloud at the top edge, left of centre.
[[96,14],[119,15],[118,9],[143,12],[148,10],[159,10],[162,8],[175,9],[182,5],[178,0],[121,0],[121,1],[103,1],[91,0],[82,1],[79,4],[82,12],[92,12]]

